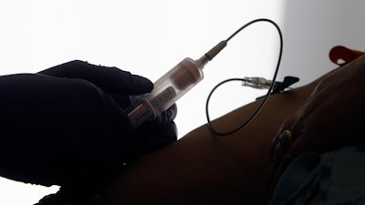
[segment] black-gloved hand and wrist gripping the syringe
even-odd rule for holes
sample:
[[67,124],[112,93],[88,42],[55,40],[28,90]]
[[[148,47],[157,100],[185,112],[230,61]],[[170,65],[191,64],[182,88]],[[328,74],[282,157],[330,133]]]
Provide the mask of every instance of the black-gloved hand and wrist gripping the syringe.
[[[152,87],[144,77],[81,61],[39,74],[0,77],[0,175],[67,185],[99,178],[136,158],[141,154],[139,134],[159,131],[132,130],[123,108],[130,94]],[[157,128],[162,136],[176,138],[175,132],[165,135],[175,130],[172,118],[157,125],[162,125]]]

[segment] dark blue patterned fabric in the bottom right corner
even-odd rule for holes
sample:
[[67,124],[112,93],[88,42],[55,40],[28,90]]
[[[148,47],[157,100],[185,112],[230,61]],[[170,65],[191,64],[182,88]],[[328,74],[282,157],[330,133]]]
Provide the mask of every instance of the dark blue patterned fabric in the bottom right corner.
[[365,204],[365,144],[325,154],[305,153],[295,159],[278,181],[270,205]]

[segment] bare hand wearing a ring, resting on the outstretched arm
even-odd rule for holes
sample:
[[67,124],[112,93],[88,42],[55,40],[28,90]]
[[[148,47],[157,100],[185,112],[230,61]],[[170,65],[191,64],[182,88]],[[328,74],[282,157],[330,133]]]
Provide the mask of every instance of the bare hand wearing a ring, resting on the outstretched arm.
[[[270,174],[276,184],[287,168],[283,156],[295,158],[304,152],[323,153],[363,139],[365,56],[320,80],[305,104],[282,125],[272,145]],[[287,150],[279,143],[284,130],[292,132]]]

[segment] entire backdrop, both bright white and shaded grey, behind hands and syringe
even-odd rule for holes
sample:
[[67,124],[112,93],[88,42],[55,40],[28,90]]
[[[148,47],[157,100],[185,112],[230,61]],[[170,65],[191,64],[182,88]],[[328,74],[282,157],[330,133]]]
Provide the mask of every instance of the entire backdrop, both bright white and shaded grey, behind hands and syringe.
[[[80,59],[155,81],[245,23],[270,18],[284,35],[277,80],[296,76],[300,86],[335,67],[328,60],[332,46],[363,50],[364,5],[361,0],[0,0],[0,75],[35,73]],[[204,68],[203,81],[177,102],[179,138],[205,123],[205,99],[218,82],[270,78],[278,42],[274,26],[267,23],[249,26],[232,39]],[[239,83],[224,86],[212,98],[212,118],[265,92]],[[0,178],[0,204],[33,204],[55,191]]]

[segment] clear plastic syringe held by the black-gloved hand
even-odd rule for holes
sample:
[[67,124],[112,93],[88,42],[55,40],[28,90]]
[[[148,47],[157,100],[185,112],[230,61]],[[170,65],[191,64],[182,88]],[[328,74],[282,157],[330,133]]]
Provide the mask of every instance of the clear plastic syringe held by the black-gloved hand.
[[130,97],[131,105],[127,112],[132,127],[138,128],[143,122],[159,117],[164,110],[170,108],[177,99],[198,84],[203,79],[203,67],[226,45],[227,41],[221,41],[197,60],[184,58],[153,84],[151,93]]

